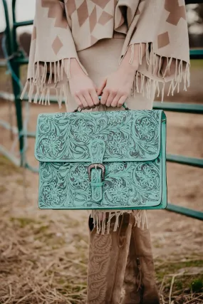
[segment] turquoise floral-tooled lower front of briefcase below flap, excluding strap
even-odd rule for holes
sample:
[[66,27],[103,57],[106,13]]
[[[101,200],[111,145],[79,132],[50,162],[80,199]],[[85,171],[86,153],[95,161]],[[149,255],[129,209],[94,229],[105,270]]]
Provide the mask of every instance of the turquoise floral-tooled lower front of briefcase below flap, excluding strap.
[[41,162],[39,206],[43,209],[93,209],[159,204],[160,157],[152,162],[104,162],[103,199],[93,201],[88,180],[90,163]]

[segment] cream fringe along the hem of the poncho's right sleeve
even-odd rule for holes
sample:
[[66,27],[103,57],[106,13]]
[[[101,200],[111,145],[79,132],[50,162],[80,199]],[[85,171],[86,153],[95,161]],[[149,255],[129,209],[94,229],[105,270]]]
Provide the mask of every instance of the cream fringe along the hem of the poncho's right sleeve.
[[[140,44],[140,52],[139,52],[139,64],[142,65],[142,43]],[[135,46],[134,44],[131,44],[131,54],[130,54],[130,60],[129,63],[132,64],[134,55],[135,55]],[[129,47],[130,47],[129,46]],[[155,68],[158,65],[158,70],[157,70],[157,75],[158,77],[161,78],[160,72],[162,69],[162,56],[160,56],[159,62],[157,63],[157,54],[154,53],[153,51],[153,43],[145,43],[146,50],[145,50],[145,55],[146,55],[146,61],[147,65],[152,65],[152,75],[155,73]],[[128,49],[128,48],[127,48]],[[125,51],[125,54],[127,53],[127,50]],[[124,56],[125,56],[124,54]],[[123,58],[120,58],[119,65],[123,61]],[[165,72],[162,75],[162,80],[155,80],[148,78],[147,76],[143,75],[140,73],[138,70],[135,73],[135,78],[133,81],[132,85],[132,93],[131,95],[135,97],[135,93],[141,93],[143,96],[145,95],[145,92],[147,93],[146,96],[147,98],[150,98],[150,92],[151,92],[151,85],[155,85],[155,88],[157,90],[157,97],[160,96],[160,91],[161,91],[161,96],[162,96],[162,102],[164,100],[164,94],[165,94],[165,75],[167,71],[170,71],[170,67],[172,64],[172,60],[175,60],[175,77],[169,81],[170,87],[167,93],[167,96],[172,94],[174,95],[175,88],[177,88],[177,93],[179,93],[179,85],[182,83],[183,80],[183,90],[187,91],[187,88],[189,87],[189,63],[186,63],[185,70],[183,71],[183,61],[178,60],[177,58],[167,58],[167,66],[165,68]],[[178,62],[179,61],[179,62]],[[140,77],[140,86],[139,86],[139,81],[138,78]],[[162,83],[162,88],[160,89],[160,83]]]

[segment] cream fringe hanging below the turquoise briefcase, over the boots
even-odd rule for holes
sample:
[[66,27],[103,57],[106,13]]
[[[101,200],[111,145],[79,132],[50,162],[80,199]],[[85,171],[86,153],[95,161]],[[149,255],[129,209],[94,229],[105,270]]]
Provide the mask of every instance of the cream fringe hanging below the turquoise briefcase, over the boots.
[[[105,225],[106,221],[106,214],[109,214],[108,216],[108,222],[107,225]],[[107,234],[110,233],[110,221],[113,219],[115,216],[115,224],[113,231],[116,231],[119,227],[119,216],[121,216],[124,213],[129,213],[132,214],[132,216],[135,217],[135,226],[144,229],[145,225],[147,226],[147,229],[149,228],[148,226],[148,221],[147,221],[147,213],[146,210],[122,210],[122,211],[102,211],[102,210],[92,210],[90,216],[93,218],[93,224],[94,226],[97,227],[97,233],[100,234],[105,234],[105,230]],[[100,220],[100,214],[103,215],[103,219]]]

